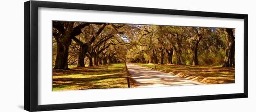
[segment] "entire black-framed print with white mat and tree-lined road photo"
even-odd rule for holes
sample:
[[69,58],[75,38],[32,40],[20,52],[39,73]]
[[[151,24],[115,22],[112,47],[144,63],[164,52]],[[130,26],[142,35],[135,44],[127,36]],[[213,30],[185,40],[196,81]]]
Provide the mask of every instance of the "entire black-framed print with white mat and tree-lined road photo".
[[248,97],[248,15],[25,2],[25,110]]

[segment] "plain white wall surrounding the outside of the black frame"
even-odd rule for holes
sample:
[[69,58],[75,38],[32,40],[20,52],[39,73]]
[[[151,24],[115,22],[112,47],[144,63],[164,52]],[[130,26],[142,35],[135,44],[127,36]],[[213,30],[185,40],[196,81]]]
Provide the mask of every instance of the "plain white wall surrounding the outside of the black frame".
[[[249,14],[249,98],[75,109],[72,112],[255,112],[256,11],[253,0],[50,0],[131,7],[153,7]],[[24,4],[0,3],[0,112],[25,112],[24,107]],[[54,112],[70,112],[61,110]]]

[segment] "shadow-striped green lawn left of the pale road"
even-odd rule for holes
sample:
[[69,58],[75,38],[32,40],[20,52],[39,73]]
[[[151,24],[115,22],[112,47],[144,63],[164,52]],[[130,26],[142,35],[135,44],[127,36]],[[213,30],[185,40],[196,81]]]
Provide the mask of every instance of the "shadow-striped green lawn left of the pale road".
[[127,88],[125,64],[53,70],[53,91]]

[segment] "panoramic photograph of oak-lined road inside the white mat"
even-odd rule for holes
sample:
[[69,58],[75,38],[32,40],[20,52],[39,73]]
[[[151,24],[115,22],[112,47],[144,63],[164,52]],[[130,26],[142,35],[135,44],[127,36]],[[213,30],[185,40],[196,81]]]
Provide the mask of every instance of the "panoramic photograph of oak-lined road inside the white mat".
[[52,20],[52,91],[235,83],[235,28]]

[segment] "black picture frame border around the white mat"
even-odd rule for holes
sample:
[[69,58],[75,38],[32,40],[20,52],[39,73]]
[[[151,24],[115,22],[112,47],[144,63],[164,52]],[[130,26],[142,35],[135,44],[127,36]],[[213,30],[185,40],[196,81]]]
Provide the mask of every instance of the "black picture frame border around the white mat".
[[[199,100],[213,100],[213,99],[248,98],[248,15],[247,14],[213,13],[213,12],[200,12],[200,11],[106,6],[106,5],[48,2],[48,1],[27,1],[24,3],[24,7],[25,7],[25,21],[24,21],[24,24],[25,24],[24,25],[24,29],[25,29],[24,105],[25,106],[24,108],[27,111],[32,112],[32,111],[49,111],[49,110],[93,108],[93,107],[121,106],[121,105],[143,105],[143,104],[185,102],[185,101],[199,101]],[[131,100],[115,100],[115,101],[99,101],[99,102],[81,102],[81,103],[63,102],[63,104],[38,105],[38,8],[39,7],[243,19],[244,20],[244,35],[243,35],[244,36],[244,74],[243,74],[244,90],[243,90],[243,93],[155,98],[155,99],[131,99]]]

